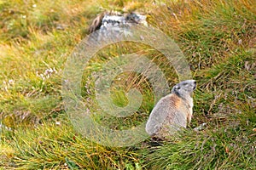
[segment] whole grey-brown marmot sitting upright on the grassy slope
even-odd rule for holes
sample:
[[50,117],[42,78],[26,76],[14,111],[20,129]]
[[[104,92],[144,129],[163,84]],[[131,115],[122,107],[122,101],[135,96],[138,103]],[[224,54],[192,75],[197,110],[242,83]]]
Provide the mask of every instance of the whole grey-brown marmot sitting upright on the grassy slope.
[[172,93],[166,95],[154,106],[146,124],[146,132],[157,139],[166,139],[179,127],[187,127],[192,117],[195,80],[186,80],[172,88]]

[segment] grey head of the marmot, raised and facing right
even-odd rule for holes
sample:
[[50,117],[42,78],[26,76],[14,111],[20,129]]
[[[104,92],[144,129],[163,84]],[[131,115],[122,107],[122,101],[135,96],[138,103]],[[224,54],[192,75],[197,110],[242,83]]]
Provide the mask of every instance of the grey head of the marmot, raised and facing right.
[[192,95],[195,87],[195,80],[186,80],[183,82],[179,82],[172,88],[172,94],[177,94],[179,97],[187,99],[189,96]]

